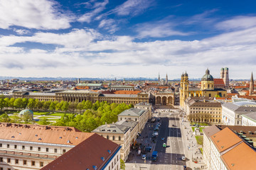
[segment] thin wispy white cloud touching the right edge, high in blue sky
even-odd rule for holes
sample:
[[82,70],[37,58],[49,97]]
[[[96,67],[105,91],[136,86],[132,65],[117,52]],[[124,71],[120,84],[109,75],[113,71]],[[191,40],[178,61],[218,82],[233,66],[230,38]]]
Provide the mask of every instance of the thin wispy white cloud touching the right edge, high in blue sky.
[[216,24],[215,27],[220,30],[237,30],[255,26],[256,16],[235,16],[234,18]]

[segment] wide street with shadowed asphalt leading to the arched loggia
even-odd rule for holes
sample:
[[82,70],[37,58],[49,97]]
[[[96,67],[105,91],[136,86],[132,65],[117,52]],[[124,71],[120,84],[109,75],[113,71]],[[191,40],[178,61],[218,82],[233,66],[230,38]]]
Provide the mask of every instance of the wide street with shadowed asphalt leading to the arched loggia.
[[[186,165],[186,161],[181,160],[181,157],[184,156],[184,152],[178,113],[178,109],[156,109],[153,116],[156,117],[156,120],[160,118],[160,121],[156,121],[156,123],[161,123],[161,126],[159,136],[155,139],[156,143],[151,144],[151,146],[153,148],[152,151],[157,151],[159,157],[156,162],[151,162],[152,152],[150,152],[146,154],[146,162],[144,162],[141,157],[134,156],[127,162],[126,169],[183,169],[183,166]],[[156,125],[156,123],[149,123],[147,127]],[[151,131],[149,131],[147,127],[144,128],[141,137],[143,140],[140,141],[149,143]],[[143,137],[144,134],[147,134],[146,136],[149,136],[149,138]],[[162,140],[162,138],[164,138],[164,140]],[[164,143],[166,143],[166,147],[163,147]]]

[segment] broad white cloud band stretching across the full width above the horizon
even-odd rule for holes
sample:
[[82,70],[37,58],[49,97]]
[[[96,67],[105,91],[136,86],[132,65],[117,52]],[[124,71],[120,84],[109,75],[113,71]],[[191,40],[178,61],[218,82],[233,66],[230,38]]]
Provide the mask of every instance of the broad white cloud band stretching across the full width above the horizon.
[[[28,41],[57,47],[27,50],[9,46]],[[2,36],[0,43],[0,72],[6,76],[152,77],[167,72],[174,79],[185,70],[190,77],[201,77],[207,67],[213,77],[219,77],[221,67],[229,67],[234,73],[249,69],[256,72],[256,28],[194,41],[135,42],[129,36],[103,39],[95,30],[82,29],[63,34],[36,33],[31,37]],[[241,71],[241,66],[246,69]],[[240,75],[230,78],[242,78]]]

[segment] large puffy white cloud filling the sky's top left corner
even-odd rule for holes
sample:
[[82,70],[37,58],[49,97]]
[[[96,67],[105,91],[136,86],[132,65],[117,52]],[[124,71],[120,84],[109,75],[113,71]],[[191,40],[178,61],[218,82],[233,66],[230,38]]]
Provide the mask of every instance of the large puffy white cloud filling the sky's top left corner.
[[[67,13],[67,11],[65,11]],[[73,18],[58,10],[55,1],[48,0],[0,0],[0,28],[10,26],[58,30],[70,28]]]

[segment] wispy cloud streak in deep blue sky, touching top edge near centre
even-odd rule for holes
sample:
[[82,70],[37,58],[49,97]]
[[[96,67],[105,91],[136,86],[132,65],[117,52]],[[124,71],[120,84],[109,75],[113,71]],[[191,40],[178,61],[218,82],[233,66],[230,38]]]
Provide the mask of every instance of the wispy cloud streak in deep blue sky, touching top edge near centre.
[[119,16],[137,16],[152,4],[152,0],[127,0],[124,4],[114,8],[113,12]]

